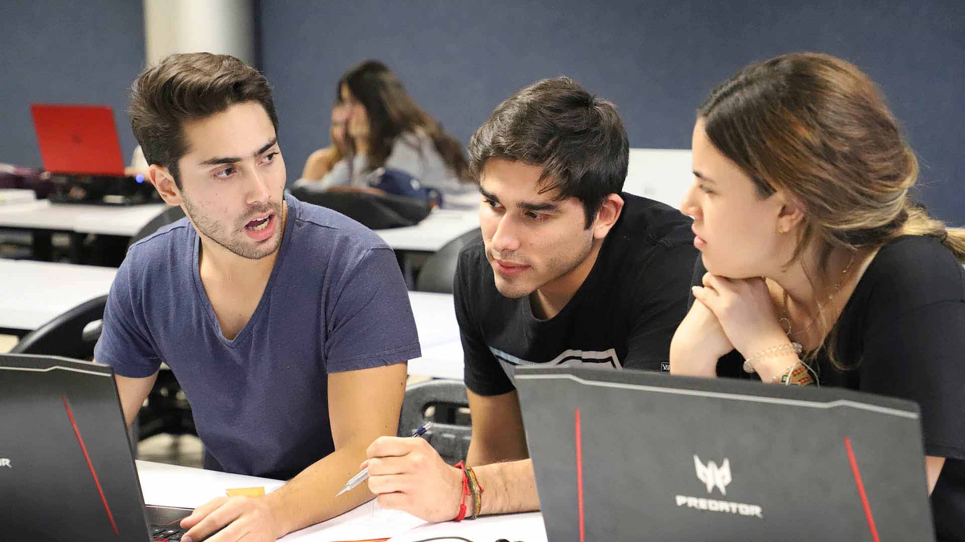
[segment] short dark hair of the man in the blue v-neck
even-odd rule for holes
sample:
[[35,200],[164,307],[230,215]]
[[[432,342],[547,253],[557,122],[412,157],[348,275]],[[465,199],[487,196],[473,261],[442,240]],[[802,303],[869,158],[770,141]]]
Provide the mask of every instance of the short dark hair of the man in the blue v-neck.
[[235,103],[257,101],[278,131],[268,80],[230,55],[171,55],[142,71],[130,90],[128,113],[134,137],[148,163],[168,168],[178,188],[178,161],[188,150],[184,122],[221,113]]

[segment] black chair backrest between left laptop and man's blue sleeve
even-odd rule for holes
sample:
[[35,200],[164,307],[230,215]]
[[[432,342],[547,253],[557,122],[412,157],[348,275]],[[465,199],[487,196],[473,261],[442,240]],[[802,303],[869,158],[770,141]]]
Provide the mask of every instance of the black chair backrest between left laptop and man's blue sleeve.
[[54,317],[16,343],[13,354],[46,354],[75,360],[94,358],[99,333],[85,333],[92,322],[104,317],[107,296],[101,295]]

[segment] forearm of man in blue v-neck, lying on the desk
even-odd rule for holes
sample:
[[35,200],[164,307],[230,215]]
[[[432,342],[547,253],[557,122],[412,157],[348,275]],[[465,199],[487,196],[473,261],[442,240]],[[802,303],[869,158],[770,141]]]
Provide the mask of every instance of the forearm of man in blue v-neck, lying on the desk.
[[264,496],[278,526],[279,538],[372,500],[374,496],[366,484],[335,497],[348,478],[358,474],[367,446],[368,443],[337,449]]

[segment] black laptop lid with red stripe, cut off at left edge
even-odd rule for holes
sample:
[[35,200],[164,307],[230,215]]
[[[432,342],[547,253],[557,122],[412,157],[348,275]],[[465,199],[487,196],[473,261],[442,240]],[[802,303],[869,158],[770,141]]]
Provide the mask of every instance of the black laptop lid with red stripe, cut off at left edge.
[[0,428],[0,538],[151,539],[110,367],[0,355]]

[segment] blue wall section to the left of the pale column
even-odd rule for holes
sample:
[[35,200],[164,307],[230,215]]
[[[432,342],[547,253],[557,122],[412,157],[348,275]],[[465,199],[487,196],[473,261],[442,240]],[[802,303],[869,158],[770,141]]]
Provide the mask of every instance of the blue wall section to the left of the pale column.
[[0,162],[41,167],[30,104],[114,108],[124,160],[137,143],[124,112],[144,65],[139,0],[4,0],[0,7]]

